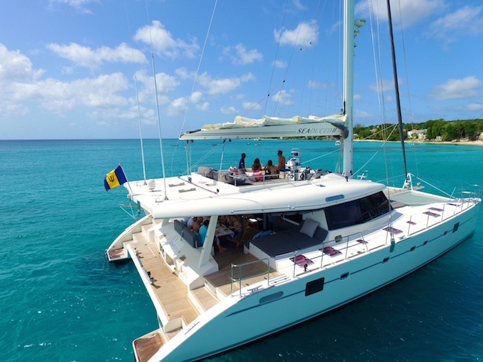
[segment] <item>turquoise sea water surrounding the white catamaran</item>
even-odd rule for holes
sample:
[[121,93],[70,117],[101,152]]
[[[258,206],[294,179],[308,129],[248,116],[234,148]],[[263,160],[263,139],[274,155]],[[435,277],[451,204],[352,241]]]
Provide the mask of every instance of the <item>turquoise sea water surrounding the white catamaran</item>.
[[[212,141],[210,141],[212,142]],[[146,177],[161,177],[160,145],[144,141]],[[163,141],[166,175],[186,172],[186,150]],[[335,170],[333,141],[189,144],[197,165],[277,163]],[[483,184],[483,147],[406,143],[408,172],[438,193]],[[325,157],[321,157],[326,154]],[[384,161],[384,154],[391,161]],[[367,163],[370,161],[370,163]],[[199,161],[199,162],[198,162]],[[132,341],[157,328],[155,309],[132,263],[104,257],[132,219],[123,187],[103,178],[121,163],[143,178],[139,140],[0,141],[1,361],[133,361]],[[367,164],[366,164],[367,163]],[[417,167],[416,167],[417,164]],[[402,185],[401,147],[354,144],[354,169]],[[386,174],[386,170],[388,170]],[[460,190],[456,188],[456,190]],[[293,305],[293,308],[299,308]],[[256,328],[263,321],[248,321]],[[237,326],[233,325],[233,333]],[[207,343],[216,336],[207,336]],[[483,215],[473,238],[404,279],[209,361],[480,361],[483,359]]]

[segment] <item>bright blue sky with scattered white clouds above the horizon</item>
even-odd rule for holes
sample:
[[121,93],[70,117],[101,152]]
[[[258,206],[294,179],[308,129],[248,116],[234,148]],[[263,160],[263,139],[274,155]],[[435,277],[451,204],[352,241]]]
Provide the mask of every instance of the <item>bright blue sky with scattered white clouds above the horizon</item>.
[[[396,120],[385,3],[356,1],[356,19],[367,20],[355,50],[354,115],[362,125],[381,122],[382,104],[386,122]],[[483,118],[482,2],[391,4],[403,121]],[[166,138],[238,114],[342,108],[339,1],[219,0],[210,26],[214,7],[214,0],[0,0],[0,139],[139,138],[137,96],[143,136],[157,138],[153,57]]]

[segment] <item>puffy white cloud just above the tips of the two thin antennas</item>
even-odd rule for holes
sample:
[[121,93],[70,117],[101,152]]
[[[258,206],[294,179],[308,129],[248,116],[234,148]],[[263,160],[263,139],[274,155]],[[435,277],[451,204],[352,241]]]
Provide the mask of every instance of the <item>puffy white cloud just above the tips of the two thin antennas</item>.
[[191,39],[191,43],[186,43],[186,41],[181,39],[174,39],[164,25],[157,20],[152,21],[152,26],[139,28],[136,31],[134,39],[136,41],[143,41],[149,46],[152,42],[152,47],[157,54],[173,59],[179,57],[179,54],[183,54],[184,57],[194,58],[199,50],[196,38]]

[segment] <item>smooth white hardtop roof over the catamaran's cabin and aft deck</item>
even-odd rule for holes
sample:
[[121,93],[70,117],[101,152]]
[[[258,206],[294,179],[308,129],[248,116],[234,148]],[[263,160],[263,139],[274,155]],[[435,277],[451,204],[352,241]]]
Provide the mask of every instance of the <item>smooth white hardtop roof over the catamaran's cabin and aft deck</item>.
[[166,179],[166,192],[161,179],[154,181],[151,189],[142,181],[126,183],[125,187],[130,190],[130,199],[155,219],[319,210],[385,188],[381,183],[346,179],[339,174],[310,181],[277,179],[235,186],[193,172],[190,177]]

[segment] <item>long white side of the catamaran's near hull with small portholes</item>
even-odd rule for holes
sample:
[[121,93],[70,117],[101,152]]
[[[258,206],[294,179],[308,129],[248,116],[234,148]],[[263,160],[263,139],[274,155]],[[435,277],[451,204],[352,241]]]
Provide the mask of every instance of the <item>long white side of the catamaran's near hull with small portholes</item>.
[[[469,239],[480,203],[445,223],[240,298],[228,297],[166,343],[150,362],[195,361],[260,339],[338,308],[421,268]],[[307,283],[324,278],[306,296]],[[185,332],[186,331],[186,332]]]

